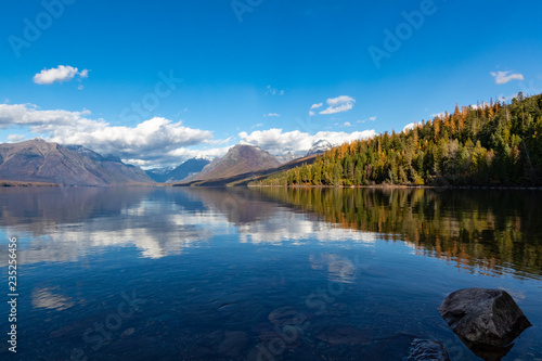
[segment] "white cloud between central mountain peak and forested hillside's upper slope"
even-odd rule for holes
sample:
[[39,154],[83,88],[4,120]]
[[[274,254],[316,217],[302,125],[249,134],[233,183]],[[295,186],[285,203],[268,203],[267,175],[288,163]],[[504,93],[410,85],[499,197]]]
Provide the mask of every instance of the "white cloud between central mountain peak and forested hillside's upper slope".
[[376,136],[374,130],[356,131],[351,133],[336,131],[319,131],[311,136],[299,130],[283,132],[282,129],[257,130],[250,134],[243,131],[238,133],[241,140],[247,144],[257,145],[272,154],[285,154],[293,152],[301,155],[306,153],[313,143],[326,140],[332,145],[339,145],[358,139],[369,139]]

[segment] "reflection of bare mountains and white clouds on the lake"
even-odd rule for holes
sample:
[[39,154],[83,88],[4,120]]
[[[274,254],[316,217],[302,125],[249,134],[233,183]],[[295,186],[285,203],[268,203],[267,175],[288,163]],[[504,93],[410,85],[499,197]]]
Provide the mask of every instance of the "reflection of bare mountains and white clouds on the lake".
[[[156,259],[206,245],[220,234],[275,245],[317,238],[371,246],[376,240],[373,232],[292,212],[248,189],[34,189],[7,190],[1,196],[1,229],[26,242],[18,255],[22,265],[77,261],[107,247],[129,246]],[[5,265],[1,259],[0,266]]]

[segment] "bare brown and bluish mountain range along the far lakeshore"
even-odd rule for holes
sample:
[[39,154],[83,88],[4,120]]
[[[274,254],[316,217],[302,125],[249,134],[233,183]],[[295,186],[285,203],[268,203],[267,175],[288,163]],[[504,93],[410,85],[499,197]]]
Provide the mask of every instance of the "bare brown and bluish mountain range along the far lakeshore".
[[[324,144],[325,145],[325,144]],[[224,185],[291,169],[315,156],[278,158],[248,144],[237,144],[221,158],[196,157],[176,168],[142,170],[118,156],[103,156],[81,145],[61,145],[34,139],[0,144],[0,184],[54,183],[62,185],[121,185],[182,183]],[[294,159],[294,160],[293,160]],[[246,182],[245,182],[246,183]]]

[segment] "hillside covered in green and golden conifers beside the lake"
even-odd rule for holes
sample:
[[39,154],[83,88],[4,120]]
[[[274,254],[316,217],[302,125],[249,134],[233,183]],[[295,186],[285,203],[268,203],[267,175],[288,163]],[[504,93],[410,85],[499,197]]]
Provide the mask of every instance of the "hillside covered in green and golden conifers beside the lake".
[[258,181],[261,185],[542,183],[542,94],[511,103],[456,105],[413,129],[326,151],[314,164]]

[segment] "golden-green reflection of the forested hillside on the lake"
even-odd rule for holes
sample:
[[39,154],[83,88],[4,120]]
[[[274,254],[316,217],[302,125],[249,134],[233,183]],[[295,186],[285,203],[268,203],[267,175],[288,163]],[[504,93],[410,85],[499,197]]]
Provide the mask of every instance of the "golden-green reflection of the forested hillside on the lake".
[[257,190],[344,229],[387,234],[416,255],[494,275],[542,275],[539,192],[400,189]]

